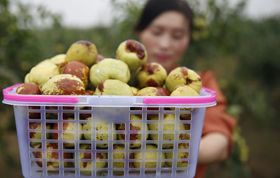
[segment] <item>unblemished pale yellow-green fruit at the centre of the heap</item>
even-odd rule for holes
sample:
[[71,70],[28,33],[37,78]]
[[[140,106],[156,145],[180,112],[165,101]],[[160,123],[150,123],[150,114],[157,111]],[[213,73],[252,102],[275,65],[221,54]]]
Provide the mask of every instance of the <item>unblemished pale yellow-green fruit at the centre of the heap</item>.
[[130,79],[130,72],[127,64],[114,58],[105,58],[90,69],[90,81],[94,87],[107,79],[117,79],[127,83]]

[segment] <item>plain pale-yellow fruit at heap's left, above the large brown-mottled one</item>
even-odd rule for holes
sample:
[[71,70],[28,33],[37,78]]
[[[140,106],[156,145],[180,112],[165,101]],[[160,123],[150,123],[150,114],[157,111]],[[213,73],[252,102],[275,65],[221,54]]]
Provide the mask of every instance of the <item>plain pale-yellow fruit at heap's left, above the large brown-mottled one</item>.
[[36,83],[39,87],[42,87],[45,82],[50,78],[59,75],[59,68],[57,65],[51,62],[45,62],[38,64],[30,70],[29,75],[26,78],[26,81]]

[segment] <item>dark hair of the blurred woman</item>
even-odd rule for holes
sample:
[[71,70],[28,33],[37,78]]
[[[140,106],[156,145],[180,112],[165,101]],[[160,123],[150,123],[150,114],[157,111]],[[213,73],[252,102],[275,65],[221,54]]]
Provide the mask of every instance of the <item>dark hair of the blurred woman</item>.
[[139,21],[135,25],[134,30],[143,31],[151,21],[166,11],[181,12],[189,22],[190,33],[192,31],[193,14],[185,0],[149,0],[142,12]]

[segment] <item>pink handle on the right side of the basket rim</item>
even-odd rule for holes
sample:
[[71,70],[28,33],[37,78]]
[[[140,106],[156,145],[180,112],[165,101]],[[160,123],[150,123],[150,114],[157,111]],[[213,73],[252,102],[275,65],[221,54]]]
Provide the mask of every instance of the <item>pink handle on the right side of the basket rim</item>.
[[143,98],[146,104],[201,104],[211,103],[216,101],[216,92],[209,88],[202,87],[210,97],[189,97],[189,98]]

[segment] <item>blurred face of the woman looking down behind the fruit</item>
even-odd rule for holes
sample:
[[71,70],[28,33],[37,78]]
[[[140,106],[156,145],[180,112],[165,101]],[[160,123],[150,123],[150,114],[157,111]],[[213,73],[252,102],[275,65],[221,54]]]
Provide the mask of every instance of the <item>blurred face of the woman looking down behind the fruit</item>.
[[139,39],[148,52],[148,63],[161,64],[170,72],[187,49],[190,35],[185,16],[167,11],[157,16],[143,31]]

